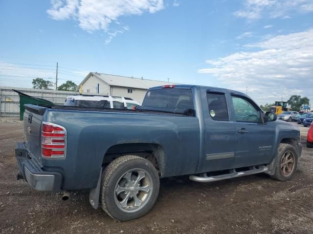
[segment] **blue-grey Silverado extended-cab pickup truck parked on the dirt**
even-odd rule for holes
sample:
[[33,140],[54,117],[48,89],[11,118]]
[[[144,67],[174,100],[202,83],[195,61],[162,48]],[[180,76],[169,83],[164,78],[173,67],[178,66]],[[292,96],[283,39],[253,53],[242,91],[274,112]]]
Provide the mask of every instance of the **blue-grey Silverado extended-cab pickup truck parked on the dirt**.
[[285,181],[301,156],[299,129],[241,92],[150,88],[134,110],[25,105],[15,154],[38,191],[89,190],[93,208],[127,221],[148,213],[159,179],[197,182],[267,173]]

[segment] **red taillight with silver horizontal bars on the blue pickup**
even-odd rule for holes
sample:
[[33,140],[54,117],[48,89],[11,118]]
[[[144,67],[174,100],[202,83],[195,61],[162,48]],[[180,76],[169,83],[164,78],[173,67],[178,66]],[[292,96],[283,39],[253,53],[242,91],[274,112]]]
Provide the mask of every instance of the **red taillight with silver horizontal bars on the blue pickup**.
[[41,146],[44,157],[65,157],[66,129],[60,125],[44,122]]

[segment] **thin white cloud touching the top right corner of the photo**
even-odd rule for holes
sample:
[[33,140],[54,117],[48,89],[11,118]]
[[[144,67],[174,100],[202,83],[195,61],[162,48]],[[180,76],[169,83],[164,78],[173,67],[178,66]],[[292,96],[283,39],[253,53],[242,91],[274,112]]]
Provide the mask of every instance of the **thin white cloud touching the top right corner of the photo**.
[[234,12],[239,18],[290,18],[288,14],[313,12],[312,0],[245,0],[244,7]]

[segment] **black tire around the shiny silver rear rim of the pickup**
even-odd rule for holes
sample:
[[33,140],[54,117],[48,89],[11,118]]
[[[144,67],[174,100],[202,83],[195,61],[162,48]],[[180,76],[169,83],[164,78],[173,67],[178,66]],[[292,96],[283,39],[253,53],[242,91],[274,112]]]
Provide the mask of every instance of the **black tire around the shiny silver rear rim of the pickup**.
[[[132,171],[134,170],[134,171]],[[128,193],[134,195],[134,188],[135,188],[135,183],[132,185],[132,191],[128,191],[128,192],[120,192],[119,194],[117,194],[117,190],[116,190],[116,186],[118,186],[118,188],[122,188],[120,185],[118,185],[119,183],[121,183],[120,181],[126,181],[124,182],[124,189],[125,188],[130,188],[128,186],[128,183],[132,183],[134,182],[134,180],[136,180],[136,178],[134,180],[126,180],[126,176],[123,177],[123,175],[128,175],[131,174],[129,176],[129,178],[131,178],[131,176],[135,176],[136,172],[138,170],[138,174],[137,174],[137,178],[139,178],[139,172],[140,170],[142,170],[143,175],[147,176],[144,177],[142,179],[139,179],[139,183],[142,183],[140,181],[143,180],[147,180],[148,181],[152,181],[149,182],[149,184],[151,185],[151,189],[149,187],[149,191],[150,194],[148,195],[149,192],[143,192],[140,191],[139,193],[146,193],[143,194],[142,197],[147,197],[145,202],[142,203],[142,207],[141,205],[139,207],[141,208],[136,208],[138,206],[136,206],[135,204],[132,205],[132,207],[134,208],[133,211],[127,210],[129,209],[131,206],[127,206],[127,207],[122,207],[121,201],[118,200],[118,198],[120,198],[120,195],[124,195],[124,197],[122,198],[122,201],[124,199],[126,199],[126,205],[127,203],[130,201],[132,202],[132,199],[135,200],[133,197],[134,196],[128,196]],[[140,173],[142,173],[140,172]],[[134,173],[134,175],[133,175]],[[147,186],[147,185],[146,185]],[[144,186],[143,186],[144,187]],[[141,187],[141,188],[143,188]],[[137,187],[138,188],[138,187]],[[126,190],[123,190],[126,191]],[[110,215],[112,218],[120,220],[120,221],[129,221],[132,219],[136,219],[139,218],[143,215],[146,215],[154,206],[155,202],[156,202],[156,198],[158,195],[158,191],[159,191],[159,176],[158,173],[156,171],[156,168],[154,167],[154,165],[142,158],[142,157],[138,157],[138,156],[134,156],[134,155],[128,155],[128,156],[121,156],[117,159],[115,159],[114,161],[112,161],[107,168],[105,169],[103,175],[102,175],[102,179],[101,179],[101,206],[102,209],[108,214]],[[137,191],[137,194],[140,195]],[[129,198],[126,198],[126,196],[128,196]],[[137,196],[137,195],[136,195]],[[142,199],[142,198],[141,198]],[[142,200],[140,200],[142,201]],[[136,211],[136,209],[139,209]]]

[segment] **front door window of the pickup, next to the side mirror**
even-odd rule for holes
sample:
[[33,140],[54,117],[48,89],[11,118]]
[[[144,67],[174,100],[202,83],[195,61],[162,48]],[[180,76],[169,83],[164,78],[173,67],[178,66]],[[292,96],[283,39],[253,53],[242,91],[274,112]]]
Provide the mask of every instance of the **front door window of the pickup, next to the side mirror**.
[[247,98],[232,96],[235,120],[239,122],[262,122],[259,108]]

